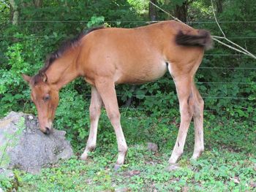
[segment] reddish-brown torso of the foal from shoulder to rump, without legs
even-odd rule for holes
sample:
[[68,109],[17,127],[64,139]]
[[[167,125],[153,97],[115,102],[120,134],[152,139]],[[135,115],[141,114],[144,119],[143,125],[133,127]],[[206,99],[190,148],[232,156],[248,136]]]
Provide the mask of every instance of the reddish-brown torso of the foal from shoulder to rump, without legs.
[[200,47],[177,45],[179,31],[197,34],[194,28],[176,21],[93,31],[81,40],[81,75],[91,84],[101,77],[111,78],[116,84],[143,83],[162,77],[168,64],[186,65],[203,53]]

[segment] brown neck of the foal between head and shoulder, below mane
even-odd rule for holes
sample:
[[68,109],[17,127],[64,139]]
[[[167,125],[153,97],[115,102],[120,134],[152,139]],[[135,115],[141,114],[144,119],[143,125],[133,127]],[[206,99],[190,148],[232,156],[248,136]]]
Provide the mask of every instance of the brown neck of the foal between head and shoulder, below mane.
[[56,85],[57,89],[60,89],[78,77],[79,72],[76,65],[77,56],[78,53],[75,50],[69,50],[60,58],[57,58],[56,61],[53,61],[53,64],[51,64],[49,69],[45,72],[48,76],[48,82],[52,85]]

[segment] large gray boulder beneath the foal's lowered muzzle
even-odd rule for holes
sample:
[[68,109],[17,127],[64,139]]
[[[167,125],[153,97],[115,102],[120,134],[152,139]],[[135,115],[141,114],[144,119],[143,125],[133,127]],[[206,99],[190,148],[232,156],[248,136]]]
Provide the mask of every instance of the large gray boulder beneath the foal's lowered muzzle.
[[37,173],[73,155],[65,131],[45,135],[34,115],[10,112],[0,120],[0,166]]

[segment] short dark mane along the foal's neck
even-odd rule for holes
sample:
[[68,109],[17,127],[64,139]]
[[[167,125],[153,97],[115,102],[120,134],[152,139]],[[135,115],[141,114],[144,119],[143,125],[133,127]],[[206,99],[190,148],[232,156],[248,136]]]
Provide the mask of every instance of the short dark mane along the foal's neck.
[[98,26],[95,28],[91,28],[85,32],[82,32],[78,35],[78,37],[75,37],[74,39],[70,39],[67,42],[64,42],[61,47],[59,47],[59,50],[56,50],[55,52],[51,53],[48,58],[45,61],[45,66],[42,67],[42,69],[39,70],[38,74],[34,75],[32,79],[32,84],[35,84],[39,82],[40,79],[42,79],[42,74],[47,71],[47,69],[50,67],[51,64],[53,64],[53,61],[56,61],[57,58],[60,58],[61,55],[63,55],[67,50],[69,50],[70,47],[75,47],[80,42],[80,39],[82,39],[86,34],[91,33],[91,31],[96,31],[98,29],[105,28],[104,26]]

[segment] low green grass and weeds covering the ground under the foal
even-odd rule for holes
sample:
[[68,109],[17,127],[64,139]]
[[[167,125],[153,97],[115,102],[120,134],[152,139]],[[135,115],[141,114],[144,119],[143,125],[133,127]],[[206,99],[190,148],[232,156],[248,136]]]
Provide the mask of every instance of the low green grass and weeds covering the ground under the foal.
[[[252,123],[206,115],[206,151],[197,161],[189,161],[194,147],[190,128],[184,155],[178,161],[180,168],[170,172],[167,160],[176,141],[178,119],[124,116],[129,117],[122,118],[129,150],[126,164],[118,171],[113,170],[116,137],[103,115],[97,149],[88,161],[77,159],[83,142],[74,146],[74,158],[42,169],[40,174],[15,170],[12,180],[0,175],[0,187],[18,191],[256,191],[256,128]],[[159,152],[149,152],[146,142],[156,142]]]

